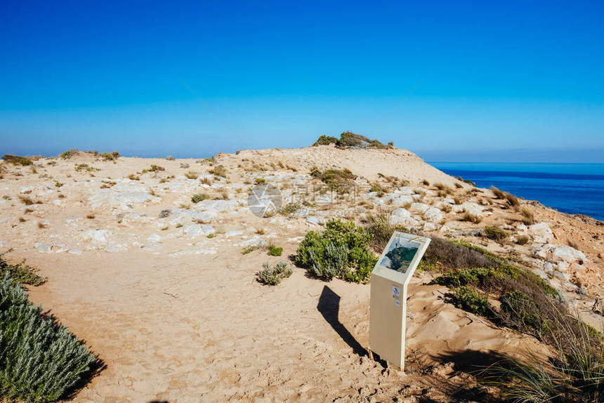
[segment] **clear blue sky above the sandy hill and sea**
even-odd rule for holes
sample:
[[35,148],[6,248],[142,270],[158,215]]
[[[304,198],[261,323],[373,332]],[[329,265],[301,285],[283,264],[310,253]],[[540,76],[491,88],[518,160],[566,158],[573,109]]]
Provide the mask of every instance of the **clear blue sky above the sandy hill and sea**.
[[2,0],[0,153],[302,147],[367,135],[425,79],[372,138],[604,162],[604,2],[491,3]]

